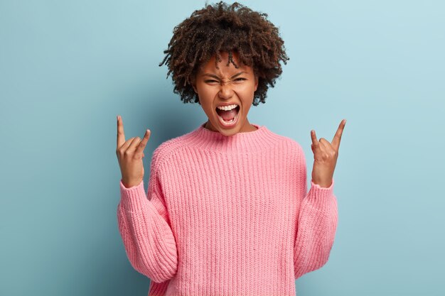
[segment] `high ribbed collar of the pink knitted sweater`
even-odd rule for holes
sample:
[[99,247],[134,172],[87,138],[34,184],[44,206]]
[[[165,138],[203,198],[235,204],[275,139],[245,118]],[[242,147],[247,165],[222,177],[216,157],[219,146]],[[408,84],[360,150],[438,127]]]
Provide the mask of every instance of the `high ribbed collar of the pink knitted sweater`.
[[[252,124],[252,123],[251,123]],[[205,123],[200,124],[194,131],[188,133],[189,146],[201,150],[212,150],[219,153],[254,153],[274,146],[279,141],[279,136],[266,126],[252,124],[257,129],[245,133],[235,133],[232,136],[224,136],[218,131],[210,131],[205,128]]]

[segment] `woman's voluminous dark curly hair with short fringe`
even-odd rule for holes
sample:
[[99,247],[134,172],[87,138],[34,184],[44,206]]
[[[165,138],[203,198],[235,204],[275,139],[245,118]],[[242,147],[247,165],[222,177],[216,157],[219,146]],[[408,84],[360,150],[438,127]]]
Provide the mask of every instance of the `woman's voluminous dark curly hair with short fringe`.
[[[289,60],[284,48],[284,40],[278,28],[267,20],[267,13],[252,11],[237,2],[228,6],[220,1],[213,6],[205,3],[205,8],[193,11],[173,29],[173,37],[168,43],[166,56],[159,64],[168,67],[168,76],[173,73],[173,92],[181,95],[183,103],[200,104],[192,83],[198,67],[216,55],[215,64],[221,62],[220,52],[238,53],[240,62],[252,67],[258,77],[257,91],[253,105],[265,103],[267,89],[274,87],[275,80],[282,74],[282,66]],[[218,64],[216,65],[218,68]],[[194,101],[193,101],[194,99]]]

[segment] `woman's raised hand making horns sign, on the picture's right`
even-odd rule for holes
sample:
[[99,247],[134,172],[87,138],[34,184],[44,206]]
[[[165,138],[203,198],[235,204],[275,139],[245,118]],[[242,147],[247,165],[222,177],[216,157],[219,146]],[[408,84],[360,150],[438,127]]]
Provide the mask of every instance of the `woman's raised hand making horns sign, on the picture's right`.
[[343,119],[340,126],[338,126],[332,143],[329,143],[325,138],[320,138],[320,141],[318,141],[315,131],[311,131],[311,149],[313,152],[312,182],[321,187],[327,188],[332,184],[333,172],[337,164],[341,134],[343,133],[345,124],[346,119]]

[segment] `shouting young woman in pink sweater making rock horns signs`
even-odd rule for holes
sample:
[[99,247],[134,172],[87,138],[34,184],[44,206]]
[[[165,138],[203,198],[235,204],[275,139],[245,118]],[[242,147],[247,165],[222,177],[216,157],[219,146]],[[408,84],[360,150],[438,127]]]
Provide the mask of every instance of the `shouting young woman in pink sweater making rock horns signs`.
[[208,121],[154,150],[147,192],[150,131],[126,141],[117,116],[119,231],[132,266],[151,279],[149,295],[295,295],[294,280],[328,261],[345,120],[332,142],[311,131],[307,192],[299,143],[247,119],[289,59],[266,17],[220,2],[175,27],[161,65]]

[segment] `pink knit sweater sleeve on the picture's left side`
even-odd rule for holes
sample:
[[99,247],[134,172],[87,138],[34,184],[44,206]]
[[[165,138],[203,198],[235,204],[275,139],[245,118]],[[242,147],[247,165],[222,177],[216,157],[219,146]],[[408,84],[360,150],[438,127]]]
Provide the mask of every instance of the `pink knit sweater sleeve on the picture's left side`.
[[144,180],[129,188],[120,180],[117,221],[133,268],[161,283],[176,274],[178,256],[155,158],[156,150],[151,160],[148,194],[144,191]]

